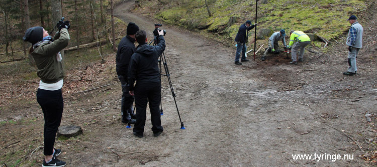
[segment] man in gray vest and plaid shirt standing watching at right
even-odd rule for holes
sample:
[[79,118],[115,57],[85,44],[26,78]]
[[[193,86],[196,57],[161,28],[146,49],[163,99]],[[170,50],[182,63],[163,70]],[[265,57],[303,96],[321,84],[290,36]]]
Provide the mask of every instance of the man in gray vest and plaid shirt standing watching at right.
[[348,70],[343,75],[355,75],[357,73],[356,57],[362,47],[362,26],[357,22],[356,16],[350,16],[347,20],[351,27],[348,31],[347,46],[348,46]]

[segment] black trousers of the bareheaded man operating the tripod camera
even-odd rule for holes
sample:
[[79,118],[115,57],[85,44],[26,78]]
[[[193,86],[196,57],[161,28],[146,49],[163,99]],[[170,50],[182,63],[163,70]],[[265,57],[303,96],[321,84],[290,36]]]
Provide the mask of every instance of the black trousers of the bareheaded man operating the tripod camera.
[[136,123],[133,131],[138,134],[144,133],[145,120],[147,118],[146,110],[149,102],[151,114],[152,131],[157,133],[163,131],[161,126],[161,113],[159,109],[161,98],[161,83],[148,83],[135,85],[135,104],[136,104]]

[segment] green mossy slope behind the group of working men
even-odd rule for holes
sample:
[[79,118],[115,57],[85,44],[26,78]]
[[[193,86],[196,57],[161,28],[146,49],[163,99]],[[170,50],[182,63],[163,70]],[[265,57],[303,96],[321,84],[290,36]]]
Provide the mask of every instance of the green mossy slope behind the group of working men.
[[[170,25],[201,30],[209,34],[220,34],[220,39],[233,39],[240,24],[246,20],[255,22],[255,1],[208,0],[212,13],[209,17],[204,0],[140,1],[143,8],[153,8],[156,19]],[[366,9],[362,0],[270,0],[267,4],[258,1],[258,29],[269,28],[300,30],[316,33],[332,40],[345,34],[350,15]],[[142,11],[140,11],[142,12]],[[230,18],[235,23],[229,23]]]

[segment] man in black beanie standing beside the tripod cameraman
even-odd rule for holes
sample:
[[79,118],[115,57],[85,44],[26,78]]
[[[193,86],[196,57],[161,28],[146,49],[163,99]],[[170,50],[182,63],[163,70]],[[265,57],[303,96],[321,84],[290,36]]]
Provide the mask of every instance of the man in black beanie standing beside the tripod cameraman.
[[118,45],[117,51],[117,75],[122,84],[122,102],[121,102],[121,114],[123,123],[135,123],[135,119],[132,119],[132,103],[134,103],[134,97],[129,94],[127,88],[127,73],[128,65],[131,60],[132,54],[135,53],[135,34],[139,31],[139,27],[135,23],[129,23],[127,26],[127,36],[124,37]]

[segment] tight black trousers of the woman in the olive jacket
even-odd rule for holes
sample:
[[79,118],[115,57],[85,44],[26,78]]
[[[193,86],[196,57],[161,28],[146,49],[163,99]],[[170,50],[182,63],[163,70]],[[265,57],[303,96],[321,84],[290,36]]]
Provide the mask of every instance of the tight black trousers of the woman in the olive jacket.
[[37,101],[42,108],[45,119],[45,127],[43,130],[45,145],[43,153],[45,155],[52,155],[56,132],[60,126],[64,107],[61,89],[55,91],[38,89]]

